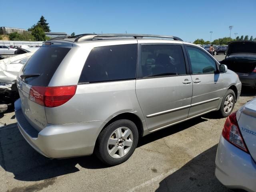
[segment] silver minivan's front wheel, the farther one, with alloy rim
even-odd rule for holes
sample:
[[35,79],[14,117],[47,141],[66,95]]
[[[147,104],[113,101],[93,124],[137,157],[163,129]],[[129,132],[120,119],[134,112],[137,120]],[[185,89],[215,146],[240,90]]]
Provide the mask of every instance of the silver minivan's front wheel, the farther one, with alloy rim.
[[218,115],[221,118],[229,116],[235,106],[236,94],[232,89],[228,89],[224,97],[222,98],[220,110],[218,110]]

